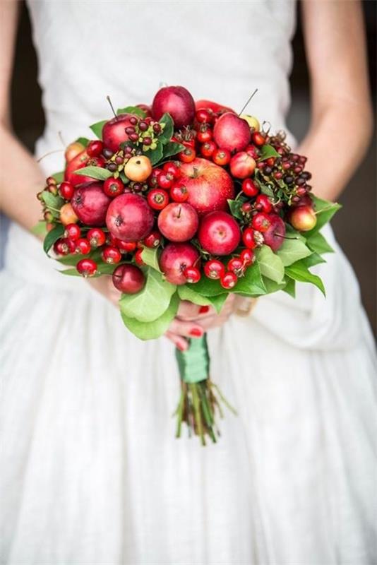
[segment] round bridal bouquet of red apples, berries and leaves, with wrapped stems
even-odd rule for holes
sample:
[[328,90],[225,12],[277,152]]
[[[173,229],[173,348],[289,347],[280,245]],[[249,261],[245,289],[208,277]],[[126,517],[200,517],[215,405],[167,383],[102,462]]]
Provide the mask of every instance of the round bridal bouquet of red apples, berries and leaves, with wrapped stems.
[[[37,195],[44,251],[64,275],[112,275],[124,325],[138,338],[167,331],[181,300],[219,312],[231,292],[294,297],[299,281],[325,293],[310,268],[332,251],[320,230],[339,206],[311,194],[306,157],[284,132],[194,102],[181,86],[91,129],[96,139],[68,145],[64,172]],[[210,380],[205,335],[176,357],[176,435],[185,422],[203,444],[216,441],[227,401]]]

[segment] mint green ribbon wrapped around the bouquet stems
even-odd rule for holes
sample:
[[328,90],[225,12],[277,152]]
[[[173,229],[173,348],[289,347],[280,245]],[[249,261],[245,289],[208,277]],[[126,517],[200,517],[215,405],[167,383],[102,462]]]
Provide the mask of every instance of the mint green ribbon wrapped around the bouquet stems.
[[176,348],[181,380],[185,383],[200,383],[208,379],[210,374],[210,354],[208,352],[207,335],[189,340],[186,351]]

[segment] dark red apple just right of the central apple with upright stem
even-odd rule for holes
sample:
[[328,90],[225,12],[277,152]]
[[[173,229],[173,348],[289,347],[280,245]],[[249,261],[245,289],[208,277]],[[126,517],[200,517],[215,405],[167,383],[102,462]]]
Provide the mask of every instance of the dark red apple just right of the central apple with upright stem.
[[241,239],[241,230],[233,216],[226,212],[211,212],[201,220],[199,243],[212,255],[229,255]]

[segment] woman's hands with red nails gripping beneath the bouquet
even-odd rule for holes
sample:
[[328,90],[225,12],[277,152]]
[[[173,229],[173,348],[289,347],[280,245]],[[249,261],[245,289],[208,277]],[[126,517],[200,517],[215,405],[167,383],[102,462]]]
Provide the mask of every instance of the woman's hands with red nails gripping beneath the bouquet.
[[[121,292],[116,290],[112,284],[112,278],[109,275],[104,275],[98,278],[88,279],[88,283],[100,295],[107,298],[114,306],[118,307]],[[184,300],[179,305],[179,310],[176,317],[169,326],[169,330],[165,333],[166,337],[171,340],[176,347],[184,351],[188,347],[186,338],[200,338],[205,331],[212,328],[222,326],[234,309],[238,307],[237,298],[235,295],[229,295],[225,301],[220,314],[217,314],[215,309],[210,306],[198,306]]]

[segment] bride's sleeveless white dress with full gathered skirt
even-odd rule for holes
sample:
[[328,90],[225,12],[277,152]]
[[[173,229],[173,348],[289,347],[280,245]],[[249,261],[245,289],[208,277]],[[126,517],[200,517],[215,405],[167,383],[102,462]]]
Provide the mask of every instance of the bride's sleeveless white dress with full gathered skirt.
[[[47,126],[37,155],[90,134],[160,81],[284,126],[287,0],[29,0]],[[46,173],[62,157],[42,161]],[[376,563],[373,343],[336,254],[209,335],[238,417],[217,445],[174,439],[174,347],[143,343],[12,225],[1,283],[1,564]]]

